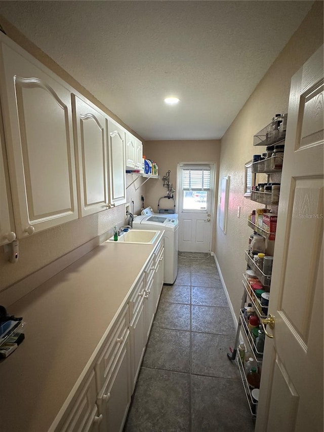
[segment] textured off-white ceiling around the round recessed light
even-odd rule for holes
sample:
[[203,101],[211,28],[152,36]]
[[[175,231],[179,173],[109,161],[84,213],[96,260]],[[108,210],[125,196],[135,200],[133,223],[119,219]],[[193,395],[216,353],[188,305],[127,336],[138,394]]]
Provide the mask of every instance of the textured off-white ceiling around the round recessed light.
[[218,139],[312,3],[0,1],[0,13],[143,139]]

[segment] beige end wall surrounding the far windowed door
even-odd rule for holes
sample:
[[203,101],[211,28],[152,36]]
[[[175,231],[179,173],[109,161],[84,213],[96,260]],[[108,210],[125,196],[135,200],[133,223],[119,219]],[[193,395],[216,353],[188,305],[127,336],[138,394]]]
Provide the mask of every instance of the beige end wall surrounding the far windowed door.
[[[145,141],[144,154],[158,165],[159,180],[148,180],[145,184],[144,206],[157,211],[157,202],[167,194],[162,178],[170,170],[170,183],[177,190],[177,164],[180,162],[211,162],[216,165],[216,185],[218,184],[220,140],[192,141]],[[217,193],[217,190],[216,190]],[[176,199],[176,194],[175,194]],[[164,201],[164,204],[166,201]],[[162,201],[161,201],[162,204]],[[172,207],[172,205],[170,205]]]

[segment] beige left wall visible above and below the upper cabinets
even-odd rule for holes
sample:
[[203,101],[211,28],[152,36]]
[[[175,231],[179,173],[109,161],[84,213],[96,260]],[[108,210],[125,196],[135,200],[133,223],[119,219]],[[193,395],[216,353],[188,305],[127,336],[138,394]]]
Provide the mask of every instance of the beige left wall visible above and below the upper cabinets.
[[[72,76],[66,73],[50,57],[48,57],[35,45],[29,42],[12,24],[10,24],[3,17],[1,17],[1,24],[7,35],[13,41],[15,41],[31,55],[61,76],[63,80],[65,80],[77,91],[95,103],[119,124],[123,125],[126,129],[134,133],[130,128],[127,127],[127,125],[123,124],[123,122],[121,122],[118,117],[116,117],[109,109],[107,109],[107,107],[102,105],[84,87],[77,83]],[[131,176],[127,176],[127,185],[130,185],[131,182]],[[135,184],[137,187],[138,183]],[[135,184],[132,184],[128,187],[127,200],[129,203],[131,203],[132,200],[134,201],[134,210],[136,212],[141,207],[142,188],[139,187],[138,190],[135,190]],[[131,209],[133,209],[132,204]],[[122,205],[114,209],[105,210],[95,215],[77,219],[55,228],[36,233],[31,237],[19,241],[19,260],[16,264],[11,264],[8,261],[8,256],[5,253],[4,247],[0,247],[0,304],[2,304],[1,293],[4,293],[5,290],[7,291],[8,287],[14,283],[20,281],[36,270],[43,268],[59,257],[64,256],[78,246],[95,239],[98,235],[104,233],[105,231],[112,232],[113,226],[115,224],[120,226],[126,222],[125,206]],[[6,293],[6,298],[7,294],[8,292]],[[5,306],[8,306],[8,304],[5,304]]]

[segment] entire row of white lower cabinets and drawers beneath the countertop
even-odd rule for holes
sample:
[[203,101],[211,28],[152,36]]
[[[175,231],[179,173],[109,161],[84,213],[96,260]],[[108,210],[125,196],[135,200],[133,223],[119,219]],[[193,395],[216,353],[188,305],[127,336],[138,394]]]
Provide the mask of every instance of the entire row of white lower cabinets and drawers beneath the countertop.
[[83,384],[49,432],[123,430],[163,286],[163,257],[161,239]]

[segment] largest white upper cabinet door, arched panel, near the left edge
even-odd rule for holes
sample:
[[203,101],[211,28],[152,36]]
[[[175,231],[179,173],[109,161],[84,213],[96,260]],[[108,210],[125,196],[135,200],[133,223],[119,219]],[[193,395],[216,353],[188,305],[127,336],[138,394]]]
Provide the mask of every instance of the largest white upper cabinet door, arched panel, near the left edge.
[[17,237],[76,219],[70,91],[0,35],[0,94]]

